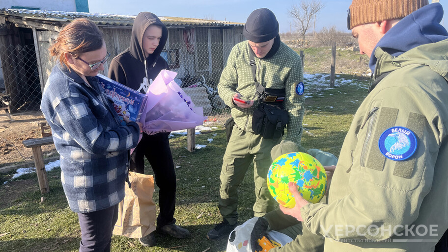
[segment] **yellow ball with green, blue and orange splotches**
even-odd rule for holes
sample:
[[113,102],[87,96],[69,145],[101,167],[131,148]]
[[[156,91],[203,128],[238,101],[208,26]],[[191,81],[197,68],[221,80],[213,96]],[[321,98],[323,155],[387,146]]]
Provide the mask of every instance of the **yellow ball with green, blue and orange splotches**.
[[268,171],[268,188],[272,197],[284,207],[296,204],[289,192],[288,182],[299,187],[302,197],[311,202],[319,202],[327,190],[327,174],[322,164],[313,156],[303,152],[292,152],[279,156]]

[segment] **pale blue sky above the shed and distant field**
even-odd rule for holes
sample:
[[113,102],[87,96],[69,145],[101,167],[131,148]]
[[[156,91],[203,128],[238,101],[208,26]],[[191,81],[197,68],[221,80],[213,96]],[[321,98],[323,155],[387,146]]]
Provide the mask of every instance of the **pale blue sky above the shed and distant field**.
[[[351,0],[321,0],[325,7],[317,16],[315,31],[336,25],[347,30],[347,9]],[[431,0],[429,0],[431,1]],[[294,31],[288,9],[299,1],[293,0],[88,0],[91,13],[137,15],[149,11],[162,17],[200,18],[245,23],[251,12],[268,8],[277,17],[280,32]],[[440,0],[445,9],[442,25],[448,29],[448,0]],[[311,30],[312,31],[312,27]]]

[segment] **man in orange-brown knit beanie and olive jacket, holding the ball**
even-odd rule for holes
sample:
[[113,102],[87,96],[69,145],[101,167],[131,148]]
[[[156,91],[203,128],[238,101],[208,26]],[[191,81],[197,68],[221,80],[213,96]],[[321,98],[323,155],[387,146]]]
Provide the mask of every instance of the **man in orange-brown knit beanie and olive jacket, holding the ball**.
[[[329,203],[293,184],[280,207],[331,252],[448,251],[448,32],[428,0],[353,0],[348,28],[373,82],[345,137]],[[445,234],[444,234],[445,233]],[[289,250],[298,251],[294,247]],[[277,250],[275,250],[277,251]]]

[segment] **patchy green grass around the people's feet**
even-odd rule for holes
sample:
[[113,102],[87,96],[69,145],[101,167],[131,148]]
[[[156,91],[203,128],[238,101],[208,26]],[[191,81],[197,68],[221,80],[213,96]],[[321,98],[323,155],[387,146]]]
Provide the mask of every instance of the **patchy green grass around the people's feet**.
[[[336,77],[336,88],[325,89],[325,75],[316,82],[309,80],[302,145],[334,153],[340,152],[353,115],[367,95],[367,82],[358,76]],[[313,76],[319,78],[319,76]],[[351,82],[347,82],[351,79]],[[307,81],[307,79],[306,79]],[[312,84],[313,82],[314,84]],[[324,86],[322,86],[324,85]],[[212,242],[205,234],[222,220],[218,211],[219,174],[225,151],[225,132],[217,129],[196,135],[196,144],[206,148],[188,152],[186,137],[171,138],[170,144],[177,174],[177,224],[188,228],[193,236],[178,240],[157,234],[157,246],[144,248],[137,239],[112,237],[112,251],[225,251],[227,241]],[[214,135],[216,134],[216,135]],[[209,143],[207,139],[214,140]],[[148,165],[149,166],[149,165]],[[148,171],[151,169],[147,169]],[[2,175],[3,179],[10,175]],[[81,230],[78,217],[68,208],[60,183],[60,169],[47,174],[50,193],[41,195],[37,176],[26,175],[18,181],[0,185],[0,251],[43,252],[71,251],[79,248]],[[239,189],[240,222],[252,217],[253,171],[250,169]],[[41,202],[41,197],[45,199]],[[158,202],[158,189],[154,201]],[[202,214],[201,218],[196,218]],[[182,246],[182,247],[178,247]],[[174,249],[168,249],[177,247]]]

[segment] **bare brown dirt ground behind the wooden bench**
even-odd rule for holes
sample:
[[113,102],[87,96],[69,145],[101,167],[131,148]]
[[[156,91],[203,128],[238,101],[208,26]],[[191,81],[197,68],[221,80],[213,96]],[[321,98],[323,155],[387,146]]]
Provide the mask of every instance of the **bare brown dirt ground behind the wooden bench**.
[[[11,117],[14,122],[0,111],[0,168],[17,162],[32,162],[31,148],[26,148],[22,141],[42,137],[37,123],[46,122],[40,111],[11,114]],[[57,154],[54,145],[42,146],[42,151],[44,157]]]

